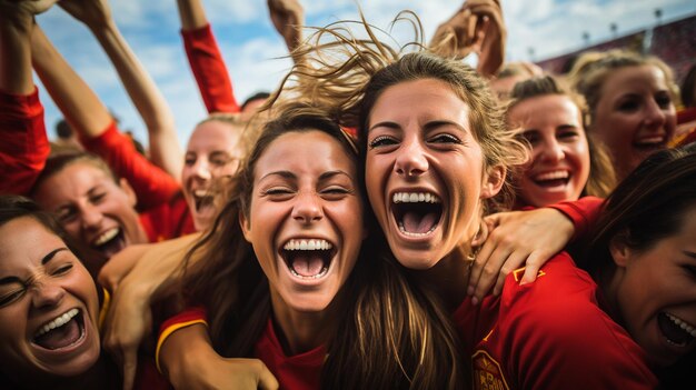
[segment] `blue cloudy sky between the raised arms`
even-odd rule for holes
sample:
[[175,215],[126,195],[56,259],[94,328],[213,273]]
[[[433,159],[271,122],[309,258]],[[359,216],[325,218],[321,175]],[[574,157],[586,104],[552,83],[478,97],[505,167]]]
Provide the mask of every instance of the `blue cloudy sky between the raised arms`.
[[[239,103],[261,90],[272,90],[289,70],[286,46],[268,17],[266,0],[202,0],[232,79]],[[415,11],[422,22],[426,40],[437,26],[459,7],[453,0],[300,0],[307,26],[326,26],[337,20],[356,20],[358,4],[367,20],[388,28],[401,10]],[[501,0],[508,29],[506,60],[539,61],[581,48],[584,33],[589,43],[654,27],[655,10],[660,22],[696,13],[693,0]],[[113,18],[136,56],[150,72],[169,103],[179,142],[186,142],[197,122],[206,117],[196,82],[190,73],[179,34],[176,0],[111,1]],[[59,7],[38,17],[49,39],[68,62],[116,113],[122,130],[130,130],[147,144],[147,129],[122,88],[116,70],[89,30]],[[409,37],[399,37],[397,40]],[[475,59],[470,60],[475,62]],[[38,80],[37,80],[38,81]],[[60,112],[38,82],[46,107],[49,138]]]

